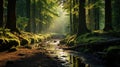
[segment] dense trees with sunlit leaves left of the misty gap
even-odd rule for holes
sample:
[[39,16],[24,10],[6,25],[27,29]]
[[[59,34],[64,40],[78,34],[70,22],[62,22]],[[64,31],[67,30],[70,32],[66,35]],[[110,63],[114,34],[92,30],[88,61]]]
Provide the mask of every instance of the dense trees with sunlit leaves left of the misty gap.
[[[6,2],[7,5],[5,5]],[[0,27],[19,33],[19,30],[41,32],[42,29],[47,29],[54,16],[58,16],[57,12],[54,12],[55,5],[57,0],[1,0]],[[4,8],[7,9],[6,12]],[[7,18],[6,22],[3,18]]]

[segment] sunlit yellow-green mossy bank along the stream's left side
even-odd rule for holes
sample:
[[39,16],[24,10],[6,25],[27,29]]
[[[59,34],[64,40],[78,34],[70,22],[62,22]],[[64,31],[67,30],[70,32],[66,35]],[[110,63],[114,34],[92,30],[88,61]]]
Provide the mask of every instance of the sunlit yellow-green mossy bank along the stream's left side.
[[10,50],[18,46],[28,46],[30,44],[44,41],[51,37],[51,34],[33,34],[28,32],[11,33],[7,29],[0,29],[0,51]]

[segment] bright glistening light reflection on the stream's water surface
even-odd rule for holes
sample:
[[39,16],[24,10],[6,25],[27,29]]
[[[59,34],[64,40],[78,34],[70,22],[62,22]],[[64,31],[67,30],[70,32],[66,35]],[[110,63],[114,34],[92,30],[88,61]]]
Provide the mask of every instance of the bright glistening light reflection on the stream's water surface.
[[59,49],[58,48],[59,40],[52,40],[46,43],[47,43],[46,49],[51,51],[52,55],[57,56],[57,60],[60,61],[63,67],[89,67],[83,63],[80,57],[74,56],[67,51]]

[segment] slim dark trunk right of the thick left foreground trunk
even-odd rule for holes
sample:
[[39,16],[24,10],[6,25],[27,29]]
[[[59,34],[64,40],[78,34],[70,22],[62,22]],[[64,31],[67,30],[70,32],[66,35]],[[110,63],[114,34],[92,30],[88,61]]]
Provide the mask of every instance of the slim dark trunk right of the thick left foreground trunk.
[[30,14],[31,5],[30,4],[31,4],[31,0],[26,0],[26,16],[29,19],[27,27],[26,27],[27,32],[31,32],[31,21],[30,21],[31,20],[31,14]]

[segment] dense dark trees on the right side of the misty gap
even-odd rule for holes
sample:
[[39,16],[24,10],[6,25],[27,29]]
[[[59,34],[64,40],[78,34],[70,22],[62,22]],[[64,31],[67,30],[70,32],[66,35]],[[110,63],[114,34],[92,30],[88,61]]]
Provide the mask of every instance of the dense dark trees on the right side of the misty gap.
[[116,15],[120,13],[119,0],[63,0],[63,3],[63,9],[70,13],[71,34],[120,31],[119,15]]

